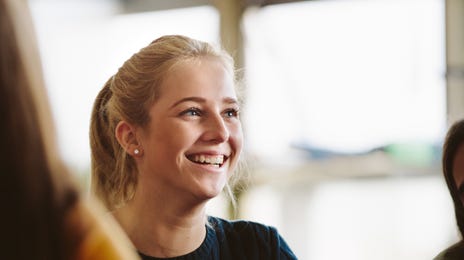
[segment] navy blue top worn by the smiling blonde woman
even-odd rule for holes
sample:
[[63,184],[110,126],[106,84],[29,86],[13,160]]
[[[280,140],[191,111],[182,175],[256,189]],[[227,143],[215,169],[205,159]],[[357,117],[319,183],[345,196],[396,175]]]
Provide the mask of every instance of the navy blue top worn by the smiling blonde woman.
[[250,221],[208,217],[206,238],[195,251],[178,257],[155,259],[297,259],[274,227]]

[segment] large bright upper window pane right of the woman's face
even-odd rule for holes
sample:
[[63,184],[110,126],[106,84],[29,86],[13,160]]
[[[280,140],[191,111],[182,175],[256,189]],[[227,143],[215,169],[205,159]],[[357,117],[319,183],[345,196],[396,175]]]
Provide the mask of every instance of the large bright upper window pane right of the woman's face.
[[245,15],[252,153],[434,143],[446,130],[440,0],[307,1]]

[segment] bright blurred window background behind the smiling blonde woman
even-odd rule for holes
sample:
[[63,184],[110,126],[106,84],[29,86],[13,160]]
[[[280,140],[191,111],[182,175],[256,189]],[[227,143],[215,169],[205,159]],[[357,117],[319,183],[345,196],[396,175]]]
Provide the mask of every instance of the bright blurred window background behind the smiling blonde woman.
[[[29,0],[62,153],[89,182],[97,92],[155,38],[243,68],[251,182],[238,216],[300,259],[431,259],[458,239],[441,173],[464,117],[461,0]],[[229,218],[219,197],[211,214]]]

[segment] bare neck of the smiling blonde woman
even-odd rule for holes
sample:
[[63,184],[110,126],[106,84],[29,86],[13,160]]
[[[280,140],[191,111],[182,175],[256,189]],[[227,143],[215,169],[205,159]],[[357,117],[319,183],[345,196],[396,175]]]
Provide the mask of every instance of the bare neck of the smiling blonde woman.
[[177,198],[136,193],[113,214],[141,253],[180,256],[197,249],[206,236],[206,202],[187,205]]

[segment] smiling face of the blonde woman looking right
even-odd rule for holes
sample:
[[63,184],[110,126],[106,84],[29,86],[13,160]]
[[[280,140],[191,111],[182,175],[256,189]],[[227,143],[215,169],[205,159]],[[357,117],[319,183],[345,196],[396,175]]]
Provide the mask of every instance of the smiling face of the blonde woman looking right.
[[214,59],[181,63],[159,94],[140,139],[139,185],[201,200],[218,195],[242,149],[231,75]]

